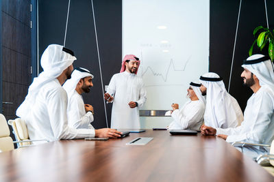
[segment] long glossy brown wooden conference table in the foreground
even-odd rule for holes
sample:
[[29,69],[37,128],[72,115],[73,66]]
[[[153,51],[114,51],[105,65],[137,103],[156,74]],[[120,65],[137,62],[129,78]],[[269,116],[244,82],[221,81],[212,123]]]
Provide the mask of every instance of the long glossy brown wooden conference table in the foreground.
[[[125,145],[138,136],[147,145]],[[107,141],[61,140],[0,153],[0,181],[274,181],[215,136],[167,131]]]

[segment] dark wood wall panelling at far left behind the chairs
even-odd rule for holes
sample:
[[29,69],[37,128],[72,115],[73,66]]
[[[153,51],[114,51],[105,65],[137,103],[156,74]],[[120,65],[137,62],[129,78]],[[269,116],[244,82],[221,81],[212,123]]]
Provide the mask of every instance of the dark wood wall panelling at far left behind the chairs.
[[16,118],[16,109],[25,99],[31,82],[31,12],[30,0],[1,2],[2,97],[3,102],[10,102],[3,103],[2,113],[9,120]]

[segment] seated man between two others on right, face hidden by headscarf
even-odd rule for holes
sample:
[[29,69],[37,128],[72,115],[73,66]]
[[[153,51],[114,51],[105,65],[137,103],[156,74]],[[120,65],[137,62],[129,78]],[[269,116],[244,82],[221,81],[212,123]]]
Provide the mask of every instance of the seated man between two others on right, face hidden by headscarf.
[[218,74],[207,73],[200,77],[201,93],[206,95],[205,125],[211,127],[237,127],[243,120],[237,100],[225,89]]

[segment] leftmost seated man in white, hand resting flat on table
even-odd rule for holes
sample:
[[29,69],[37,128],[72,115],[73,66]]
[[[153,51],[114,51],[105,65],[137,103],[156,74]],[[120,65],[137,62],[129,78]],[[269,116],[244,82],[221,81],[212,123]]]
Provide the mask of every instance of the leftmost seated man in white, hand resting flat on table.
[[66,108],[68,97],[62,84],[71,78],[73,51],[51,44],[41,57],[43,72],[29,86],[25,101],[16,115],[25,120],[30,139],[49,141],[89,137],[119,137],[112,129],[88,130],[69,127]]

